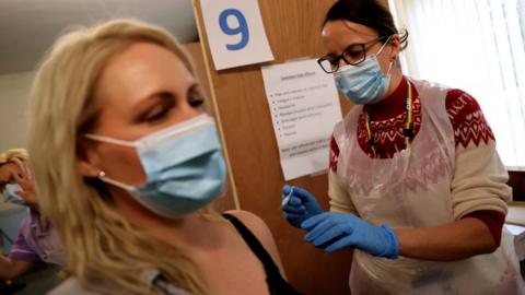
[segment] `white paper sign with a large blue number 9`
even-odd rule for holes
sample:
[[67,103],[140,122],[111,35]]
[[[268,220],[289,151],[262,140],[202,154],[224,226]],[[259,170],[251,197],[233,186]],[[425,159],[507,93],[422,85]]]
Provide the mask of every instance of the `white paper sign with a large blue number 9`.
[[201,0],[201,8],[215,70],[273,60],[257,0]]

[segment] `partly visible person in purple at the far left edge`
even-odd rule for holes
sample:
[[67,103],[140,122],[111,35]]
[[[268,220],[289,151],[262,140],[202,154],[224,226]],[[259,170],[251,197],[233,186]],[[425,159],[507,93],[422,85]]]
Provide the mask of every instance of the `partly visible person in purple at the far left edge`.
[[28,208],[9,257],[0,256],[0,278],[3,280],[25,273],[33,263],[65,264],[60,241],[49,222],[40,216],[27,158],[27,152],[23,149],[0,154],[0,192],[3,201]]

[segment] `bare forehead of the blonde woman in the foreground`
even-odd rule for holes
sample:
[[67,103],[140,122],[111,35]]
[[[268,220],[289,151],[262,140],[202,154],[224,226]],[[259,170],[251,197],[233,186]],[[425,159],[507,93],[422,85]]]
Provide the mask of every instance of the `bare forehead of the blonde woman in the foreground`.
[[119,105],[135,104],[161,88],[176,91],[192,82],[192,74],[175,54],[152,43],[136,43],[112,58],[98,80],[95,97]]

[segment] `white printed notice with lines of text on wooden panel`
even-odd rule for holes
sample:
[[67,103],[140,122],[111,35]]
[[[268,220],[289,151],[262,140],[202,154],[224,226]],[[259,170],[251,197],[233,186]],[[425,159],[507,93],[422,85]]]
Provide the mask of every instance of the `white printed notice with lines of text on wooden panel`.
[[328,168],[329,140],[341,120],[331,74],[316,60],[262,67],[284,179]]

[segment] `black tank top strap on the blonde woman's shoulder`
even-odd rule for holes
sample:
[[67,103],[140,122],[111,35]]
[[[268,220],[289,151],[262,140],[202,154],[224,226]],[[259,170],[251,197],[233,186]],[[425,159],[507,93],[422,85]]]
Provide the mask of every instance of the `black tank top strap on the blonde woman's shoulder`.
[[232,214],[223,213],[222,214],[226,220],[229,220],[237,232],[243,237],[244,241],[249,246],[249,249],[257,256],[257,258],[262,262],[266,271],[266,282],[271,295],[300,295],[295,288],[292,287],[284,279],[282,279],[279,268],[271,259],[271,256],[266,251],[265,247],[260,241],[255,237],[254,234],[235,216]]

